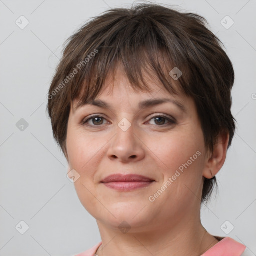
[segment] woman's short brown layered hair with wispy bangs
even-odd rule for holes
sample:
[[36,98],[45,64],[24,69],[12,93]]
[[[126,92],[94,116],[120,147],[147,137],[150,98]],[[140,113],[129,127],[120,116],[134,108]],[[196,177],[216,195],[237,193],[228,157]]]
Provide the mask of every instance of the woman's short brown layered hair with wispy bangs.
[[[231,114],[234,70],[222,42],[205,24],[198,14],[143,3],[107,10],[78,29],[66,41],[47,96],[54,139],[62,151],[66,154],[71,103],[79,99],[82,105],[94,99],[118,64],[133,88],[150,91],[144,71],[170,93],[191,96],[206,148],[212,152],[220,132],[229,133],[229,147],[235,131]],[[175,82],[169,74],[174,67],[182,71]],[[201,202],[208,200],[214,183],[215,176],[204,178]]]

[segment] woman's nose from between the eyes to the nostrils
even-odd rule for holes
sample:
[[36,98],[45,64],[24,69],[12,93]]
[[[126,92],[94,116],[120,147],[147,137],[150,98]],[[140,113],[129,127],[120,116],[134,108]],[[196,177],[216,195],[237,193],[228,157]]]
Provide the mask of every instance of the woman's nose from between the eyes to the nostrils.
[[[121,127],[121,126],[120,126]],[[131,125],[127,130],[116,126],[116,133],[109,143],[110,160],[121,162],[139,161],[145,157],[145,145]]]

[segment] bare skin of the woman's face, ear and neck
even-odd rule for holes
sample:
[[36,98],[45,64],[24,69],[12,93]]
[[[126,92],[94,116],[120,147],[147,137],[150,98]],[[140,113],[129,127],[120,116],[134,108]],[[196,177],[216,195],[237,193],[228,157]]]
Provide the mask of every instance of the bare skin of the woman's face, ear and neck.
[[[79,173],[74,183],[77,195],[96,219],[101,235],[97,254],[201,255],[218,242],[200,221],[203,177],[216,175],[224,164],[228,134],[219,135],[209,153],[192,98],[171,95],[153,81],[153,92],[134,91],[121,69],[113,90],[111,82],[107,79],[96,97],[109,103],[111,110],[84,105],[74,111],[74,101],[66,137],[68,172]],[[186,112],[171,102],[138,108],[142,100],[166,97],[178,100]],[[82,125],[91,114],[103,117],[97,120],[100,124],[94,117],[88,121],[93,127]],[[157,120],[162,114],[174,117],[176,123]],[[131,124],[126,131],[118,126],[123,118]],[[149,201],[197,151],[200,156],[158,198]],[[141,174],[155,181],[132,191],[117,191],[100,183],[113,173]],[[126,233],[118,228],[123,221],[130,227]]]

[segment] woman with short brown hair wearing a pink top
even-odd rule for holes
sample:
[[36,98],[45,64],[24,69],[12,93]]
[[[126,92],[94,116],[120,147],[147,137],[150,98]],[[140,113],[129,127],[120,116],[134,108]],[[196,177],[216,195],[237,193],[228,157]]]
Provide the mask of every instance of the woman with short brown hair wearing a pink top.
[[200,221],[235,131],[234,70],[205,22],[140,4],[108,10],[69,38],[47,107],[102,239],[80,256],[245,250]]

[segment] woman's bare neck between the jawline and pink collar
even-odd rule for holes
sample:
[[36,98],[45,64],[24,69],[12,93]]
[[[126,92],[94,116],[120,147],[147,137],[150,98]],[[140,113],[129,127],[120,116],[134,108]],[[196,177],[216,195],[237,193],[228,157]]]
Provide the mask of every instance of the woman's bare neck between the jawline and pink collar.
[[156,225],[158,229],[148,224],[146,231],[131,228],[127,233],[98,220],[97,224],[102,239],[97,251],[99,256],[199,256],[218,242],[201,225],[200,219],[199,222],[187,218],[176,223],[164,223],[160,228]]

